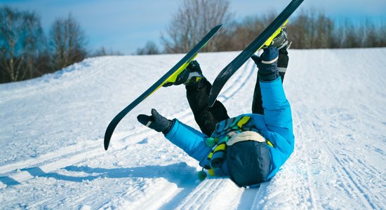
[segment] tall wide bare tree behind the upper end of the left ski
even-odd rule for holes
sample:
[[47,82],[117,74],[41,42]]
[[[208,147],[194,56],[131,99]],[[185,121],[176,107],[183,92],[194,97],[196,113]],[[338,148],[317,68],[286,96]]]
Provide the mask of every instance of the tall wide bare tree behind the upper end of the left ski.
[[[166,52],[187,52],[209,29],[230,22],[227,0],[184,0],[173,17],[165,36],[161,36]],[[220,31],[217,37],[224,34]],[[204,51],[216,51],[220,43],[211,41]]]

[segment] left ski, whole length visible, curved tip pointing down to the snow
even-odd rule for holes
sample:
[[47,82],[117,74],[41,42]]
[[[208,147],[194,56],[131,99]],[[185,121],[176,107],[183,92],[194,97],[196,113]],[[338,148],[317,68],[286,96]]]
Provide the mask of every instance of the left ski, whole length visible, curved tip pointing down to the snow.
[[161,87],[161,85],[163,85],[164,82],[166,80],[168,80],[168,78],[171,77],[173,75],[173,73],[175,73],[175,71],[178,71],[178,69],[180,69],[181,66],[183,66],[184,64],[189,62],[190,59],[195,57],[197,55],[197,52],[199,52],[199,50],[201,50],[201,48],[203,48],[206,45],[206,43],[208,43],[208,41],[215,35],[215,33],[218,31],[218,29],[220,29],[221,26],[222,25],[217,25],[217,26],[213,27],[213,29],[211,29],[211,31],[209,31],[208,34],[206,34],[204,36],[204,38],[202,38],[201,41],[199,41],[199,43],[197,43],[197,45],[195,45],[194,48],[192,48],[192,50],[187,52],[185,57],[182,57],[182,59],[177,64],[175,64],[175,66],[173,66],[173,68],[171,68],[167,73],[165,73],[164,76],[162,76],[159,80],[157,80],[156,83],[154,83],[154,85],[149,87],[149,89],[147,89],[145,92],[143,92],[140,95],[140,97],[135,99],[134,102],[132,102],[131,104],[128,104],[128,106],[126,106],[126,108],[124,110],[119,112],[118,115],[115,116],[114,119],[112,119],[112,121],[107,126],[107,129],[105,132],[105,150],[106,151],[107,151],[107,148],[109,148],[109,142],[110,142],[110,139],[112,137],[112,133],[114,132],[115,127],[117,127],[118,123],[122,120],[122,118],[124,118],[124,116],[126,116],[126,114],[129,111],[134,109],[135,106],[140,104],[140,102],[142,102],[144,99],[146,99],[155,90],[157,90],[159,87]]

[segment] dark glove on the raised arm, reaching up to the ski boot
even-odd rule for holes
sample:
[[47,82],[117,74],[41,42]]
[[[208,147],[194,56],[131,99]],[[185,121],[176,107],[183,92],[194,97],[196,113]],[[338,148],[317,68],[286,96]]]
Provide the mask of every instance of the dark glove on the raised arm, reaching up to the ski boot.
[[259,78],[262,81],[269,82],[279,78],[279,71],[277,70],[277,59],[279,52],[275,47],[269,47],[262,52],[261,57],[252,55],[251,58],[258,66]]

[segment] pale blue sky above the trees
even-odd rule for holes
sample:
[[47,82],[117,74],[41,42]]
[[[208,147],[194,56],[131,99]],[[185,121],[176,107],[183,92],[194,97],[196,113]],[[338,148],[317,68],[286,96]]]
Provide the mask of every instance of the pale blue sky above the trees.
[[[147,41],[160,43],[162,32],[182,0],[0,0],[20,10],[35,10],[48,32],[55,18],[72,13],[88,37],[88,48],[104,46],[126,55],[141,48]],[[230,11],[242,20],[247,15],[258,15],[269,10],[281,10],[289,0],[229,0]],[[354,21],[371,18],[386,23],[385,0],[305,0],[300,10],[314,8],[326,15]]]

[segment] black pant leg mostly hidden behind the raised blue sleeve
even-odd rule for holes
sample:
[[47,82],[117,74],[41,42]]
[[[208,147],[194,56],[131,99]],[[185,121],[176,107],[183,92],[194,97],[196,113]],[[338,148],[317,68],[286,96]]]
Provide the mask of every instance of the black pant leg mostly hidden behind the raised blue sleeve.
[[[284,81],[284,75],[286,74],[286,69],[288,66],[288,52],[286,48],[281,48],[279,50],[279,59],[277,61],[277,69],[279,70],[279,75],[281,78],[281,83]],[[259,76],[256,80],[255,90],[253,92],[253,101],[252,101],[252,113],[257,113],[264,115],[264,109],[262,108],[262,97],[261,97],[261,88],[259,82]]]

